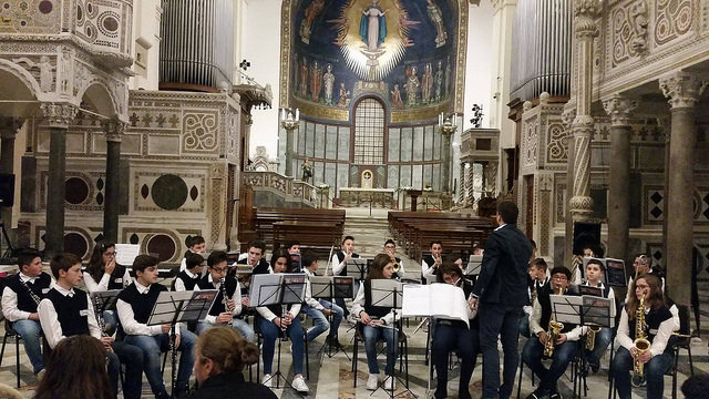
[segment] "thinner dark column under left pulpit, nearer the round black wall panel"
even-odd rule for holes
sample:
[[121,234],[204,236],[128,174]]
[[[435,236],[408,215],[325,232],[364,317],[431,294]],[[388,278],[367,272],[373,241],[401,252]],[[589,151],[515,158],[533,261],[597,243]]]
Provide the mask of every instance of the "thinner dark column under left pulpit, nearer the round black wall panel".
[[103,203],[103,236],[111,243],[119,239],[119,196],[121,168],[121,134],[124,124],[109,121],[104,124],[106,134],[106,192]]

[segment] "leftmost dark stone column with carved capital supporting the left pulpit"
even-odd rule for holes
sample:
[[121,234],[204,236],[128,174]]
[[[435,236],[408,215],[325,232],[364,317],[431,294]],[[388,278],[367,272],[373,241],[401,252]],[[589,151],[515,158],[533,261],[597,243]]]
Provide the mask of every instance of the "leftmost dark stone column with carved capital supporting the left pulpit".
[[66,130],[78,109],[68,103],[42,103],[40,106],[50,131],[44,255],[51,257],[64,250]]

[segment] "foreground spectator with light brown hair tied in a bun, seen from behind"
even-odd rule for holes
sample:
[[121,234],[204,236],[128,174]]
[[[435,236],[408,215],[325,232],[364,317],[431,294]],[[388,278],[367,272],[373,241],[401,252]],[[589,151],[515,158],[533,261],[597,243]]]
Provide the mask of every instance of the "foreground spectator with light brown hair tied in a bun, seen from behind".
[[244,380],[245,366],[258,362],[258,348],[232,328],[214,327],[197,338],[192,399],[277,399],[268,388]]

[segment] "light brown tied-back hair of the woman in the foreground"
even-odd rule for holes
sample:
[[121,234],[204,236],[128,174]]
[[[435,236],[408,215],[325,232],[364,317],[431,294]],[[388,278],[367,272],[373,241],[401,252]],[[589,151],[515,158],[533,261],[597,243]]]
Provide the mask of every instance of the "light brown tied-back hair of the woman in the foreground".
[[[247,341],[234,328],[216,326],[197,337],[195,354],[203,362],[214,362],[217,374],[235,374],[244,370],[244,366],[258,361],[258,347]],[[197,359],[195,359],[197,360]]]

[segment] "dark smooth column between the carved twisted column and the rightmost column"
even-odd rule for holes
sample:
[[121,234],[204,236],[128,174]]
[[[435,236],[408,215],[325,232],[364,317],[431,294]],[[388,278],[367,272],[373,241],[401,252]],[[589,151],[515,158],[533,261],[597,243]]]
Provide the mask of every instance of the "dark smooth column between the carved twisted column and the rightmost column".
[[603,102],[610,115],[610,183],[608,186],[607,255],[628,260],[630,228],[630,113],[637,101],[615,95]]

